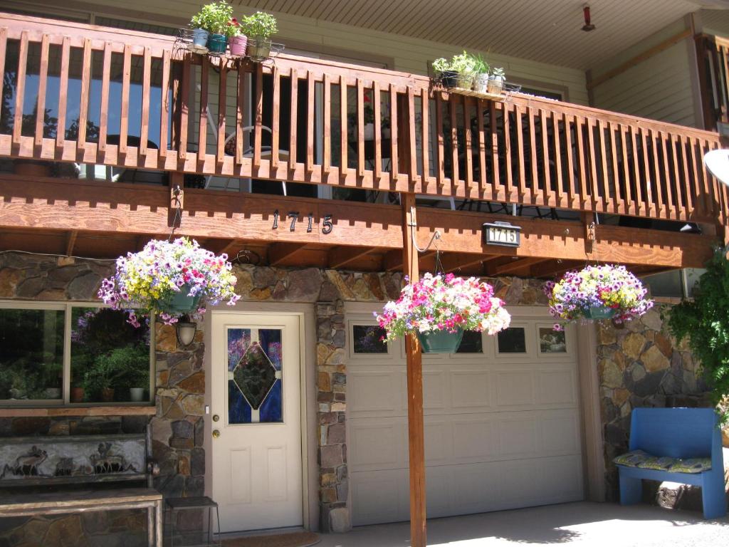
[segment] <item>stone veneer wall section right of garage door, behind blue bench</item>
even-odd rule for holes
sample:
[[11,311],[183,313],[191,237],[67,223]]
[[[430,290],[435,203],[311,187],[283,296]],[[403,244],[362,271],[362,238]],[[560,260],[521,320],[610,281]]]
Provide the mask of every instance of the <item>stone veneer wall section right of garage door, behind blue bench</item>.
[[612,459],[628,451],[633,408],[709,406],[708,388],[686,341],[677,344],[656,306],[623,329],[597,327],[600,406],[604,425],[607,498],[617,501],[619,485]]

